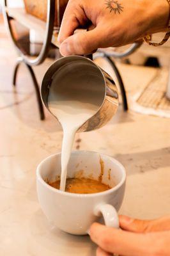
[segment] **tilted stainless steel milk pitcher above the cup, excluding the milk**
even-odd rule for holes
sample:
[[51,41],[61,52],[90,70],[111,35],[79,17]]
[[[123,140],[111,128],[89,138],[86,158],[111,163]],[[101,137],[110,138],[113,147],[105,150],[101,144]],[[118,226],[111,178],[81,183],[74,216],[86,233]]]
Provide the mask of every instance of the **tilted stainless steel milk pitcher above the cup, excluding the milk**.
[[[54,76],[55,75],[55,76]],[[92,131],[98,129],[115,115],[118,109],[118,89],[116,84],[102,68],[92,60],[82,56],[67,56],[55,61],[45,73],[42,81],[41,95],[46,108],[50,84],[56,77],[56,86],[72,86],[78,84],[79,90],[86,88],[90,97],[100,99],[100,108],[97,113],[87,120],[77,132]],[[62,82],[62,83],[61,83]],[[93,99],[93,98],[92,98]]]

